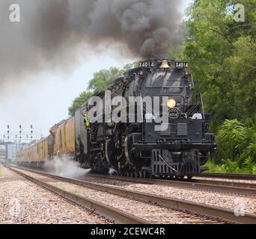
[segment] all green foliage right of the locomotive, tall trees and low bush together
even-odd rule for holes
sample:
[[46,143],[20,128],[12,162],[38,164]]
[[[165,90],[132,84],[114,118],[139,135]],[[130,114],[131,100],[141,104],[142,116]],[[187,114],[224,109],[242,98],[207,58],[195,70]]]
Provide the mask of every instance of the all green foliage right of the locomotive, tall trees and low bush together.
[[[245,6],[246,22],[234,21],[237,3]],[[219,173],[256,173],[256,0],[195,1],[186,28],[182,58],[204,95],[218,145],[207,166]]]

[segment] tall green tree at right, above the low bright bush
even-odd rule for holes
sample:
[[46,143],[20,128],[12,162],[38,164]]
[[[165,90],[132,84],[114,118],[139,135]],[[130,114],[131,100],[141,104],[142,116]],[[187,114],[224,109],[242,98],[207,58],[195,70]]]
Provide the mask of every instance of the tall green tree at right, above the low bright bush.
[[198,0],[187,10],[183,58],[190,62],[196,91],[204,93],[215,131],[225,119],[256,124],[256,0],[239,1],[246,22],[234,21],[236,3]]

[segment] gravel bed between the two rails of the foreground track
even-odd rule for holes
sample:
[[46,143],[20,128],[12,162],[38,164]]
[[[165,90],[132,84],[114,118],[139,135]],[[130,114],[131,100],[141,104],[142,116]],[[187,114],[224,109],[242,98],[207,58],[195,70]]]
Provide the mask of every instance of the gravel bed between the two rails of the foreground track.
[[195,214],[187,213],[184,211],[177,211],[171,208],[165,208],[159,205],[153,205],[147,202],[141,202],[135,199],[127,199],[123,196],[117,196],[112,193],[106,193],[100,190],[93,190],[87,187],[70,184],[67,182],[59,181],[57,179],[50,179],[46,176],[40,176],[36,173],[28,173],[25,170],[20,170],[23,173],[33,176],[36,179],[46,181],[55,187],[86,196],[106,205],[126,211],[137,217],[142,217],[151,223],[221,223],[218,220],[211,220],[207,217],[201,217]]

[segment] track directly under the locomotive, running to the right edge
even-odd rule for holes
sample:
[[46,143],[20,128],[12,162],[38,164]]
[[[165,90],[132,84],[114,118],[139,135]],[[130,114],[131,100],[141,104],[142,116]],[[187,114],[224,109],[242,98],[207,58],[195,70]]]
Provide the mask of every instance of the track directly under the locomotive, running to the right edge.
[[[166,179],[141,179],[141,178],[128,178],[125,176],[104,176],[100,174],[88,174],[88,176],[100,179],[114,179],[121,181],[130,181],[142,184],[159,184],[176,187],[189,187],[201,190],[216,190],[218,192],[235,193],[256,196],[256,183],[247,184],[233,181],[213,181],[213,180],[166,180]],[[86,179],[86,176],[85,176]]]

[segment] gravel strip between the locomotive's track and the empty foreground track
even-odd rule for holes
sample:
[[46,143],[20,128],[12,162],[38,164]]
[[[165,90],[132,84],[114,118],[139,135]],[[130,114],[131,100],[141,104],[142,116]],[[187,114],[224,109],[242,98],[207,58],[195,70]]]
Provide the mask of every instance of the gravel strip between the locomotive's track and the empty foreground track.
[[256,198],[253,196],[238,196],[231,193],[216,192],[213,190],[200,190],[197,188],[185,188],[173,185],[139,184],[116,179],[94,178],[93,176],[85,176],[84,180],[117,186],[127,190],[135,190],[159,196],[167,196],[192,202],[215,205],[221,208],[229,208],[231,210],[242,206],[244,211],[256,214]]

